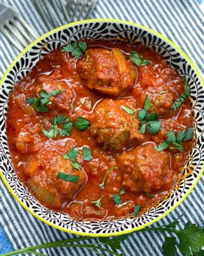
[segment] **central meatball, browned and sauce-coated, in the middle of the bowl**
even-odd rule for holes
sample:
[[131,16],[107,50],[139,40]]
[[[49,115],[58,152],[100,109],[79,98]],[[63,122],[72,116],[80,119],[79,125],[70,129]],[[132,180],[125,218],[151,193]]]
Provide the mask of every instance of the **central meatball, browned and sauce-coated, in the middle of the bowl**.
[[91,117],[91,135],[98,143],[113,151],[121,151],[143,139],[138,131],[137,113],[128,114],[122,106],[135,109],[128,100],[105,99],[99,102]]

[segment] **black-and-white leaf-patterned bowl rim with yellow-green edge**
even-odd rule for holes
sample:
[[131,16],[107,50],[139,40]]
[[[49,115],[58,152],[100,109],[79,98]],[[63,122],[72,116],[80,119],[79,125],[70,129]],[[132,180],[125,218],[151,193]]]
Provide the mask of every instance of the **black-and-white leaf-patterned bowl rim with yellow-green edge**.
[[[10,160],[6,137],[6,115],[8,94],[16,81],[31,71],[37,61],[53,49],[81,39],[122,40],[141,42],[158,52],[171,67],[185,77],[190,86],[192,108],[194,110],[194,147],[186,160],[182,176],[169,195],[158,204],[147,209],[138,218],[119,220],[74,221],[65,213],[53,212],[42,205],[20,183]],[[16,58],[1,81],[0,91],[0,168],[1,177],[12,195],[34,216],[54,228],[65,232],[88,236],[114,236],[133,232],[158,221],[171,212],[192,191],[202,175],[204,162],[204,105],[201,75],[192,61],[168,39],[149,28],[122,20],[85,20],[56,28],[37,39]]]

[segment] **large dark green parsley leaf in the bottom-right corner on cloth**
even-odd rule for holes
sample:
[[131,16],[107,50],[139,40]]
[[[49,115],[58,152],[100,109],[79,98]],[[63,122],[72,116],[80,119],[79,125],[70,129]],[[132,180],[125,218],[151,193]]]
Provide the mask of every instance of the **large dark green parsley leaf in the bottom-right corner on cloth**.
[[204,245],[204,235],[196,224],[187,222],[184,229],[177,231],[176,234],[180,240],[180,251],[185,255],[198,253],[199,249]]

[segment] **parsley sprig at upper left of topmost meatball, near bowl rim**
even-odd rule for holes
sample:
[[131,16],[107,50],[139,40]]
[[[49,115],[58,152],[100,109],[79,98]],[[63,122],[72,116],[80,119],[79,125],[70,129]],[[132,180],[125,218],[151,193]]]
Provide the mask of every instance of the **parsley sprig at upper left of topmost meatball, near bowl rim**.
[[79,59],[82,56],[82,53],[86,53],[87,61],[88,61],[88,54],[86,52],[87,44],[86,42],[74,42],[73,44],[67,44],[67,46],[62,48],[62,52],[70,52],[73,57]]

